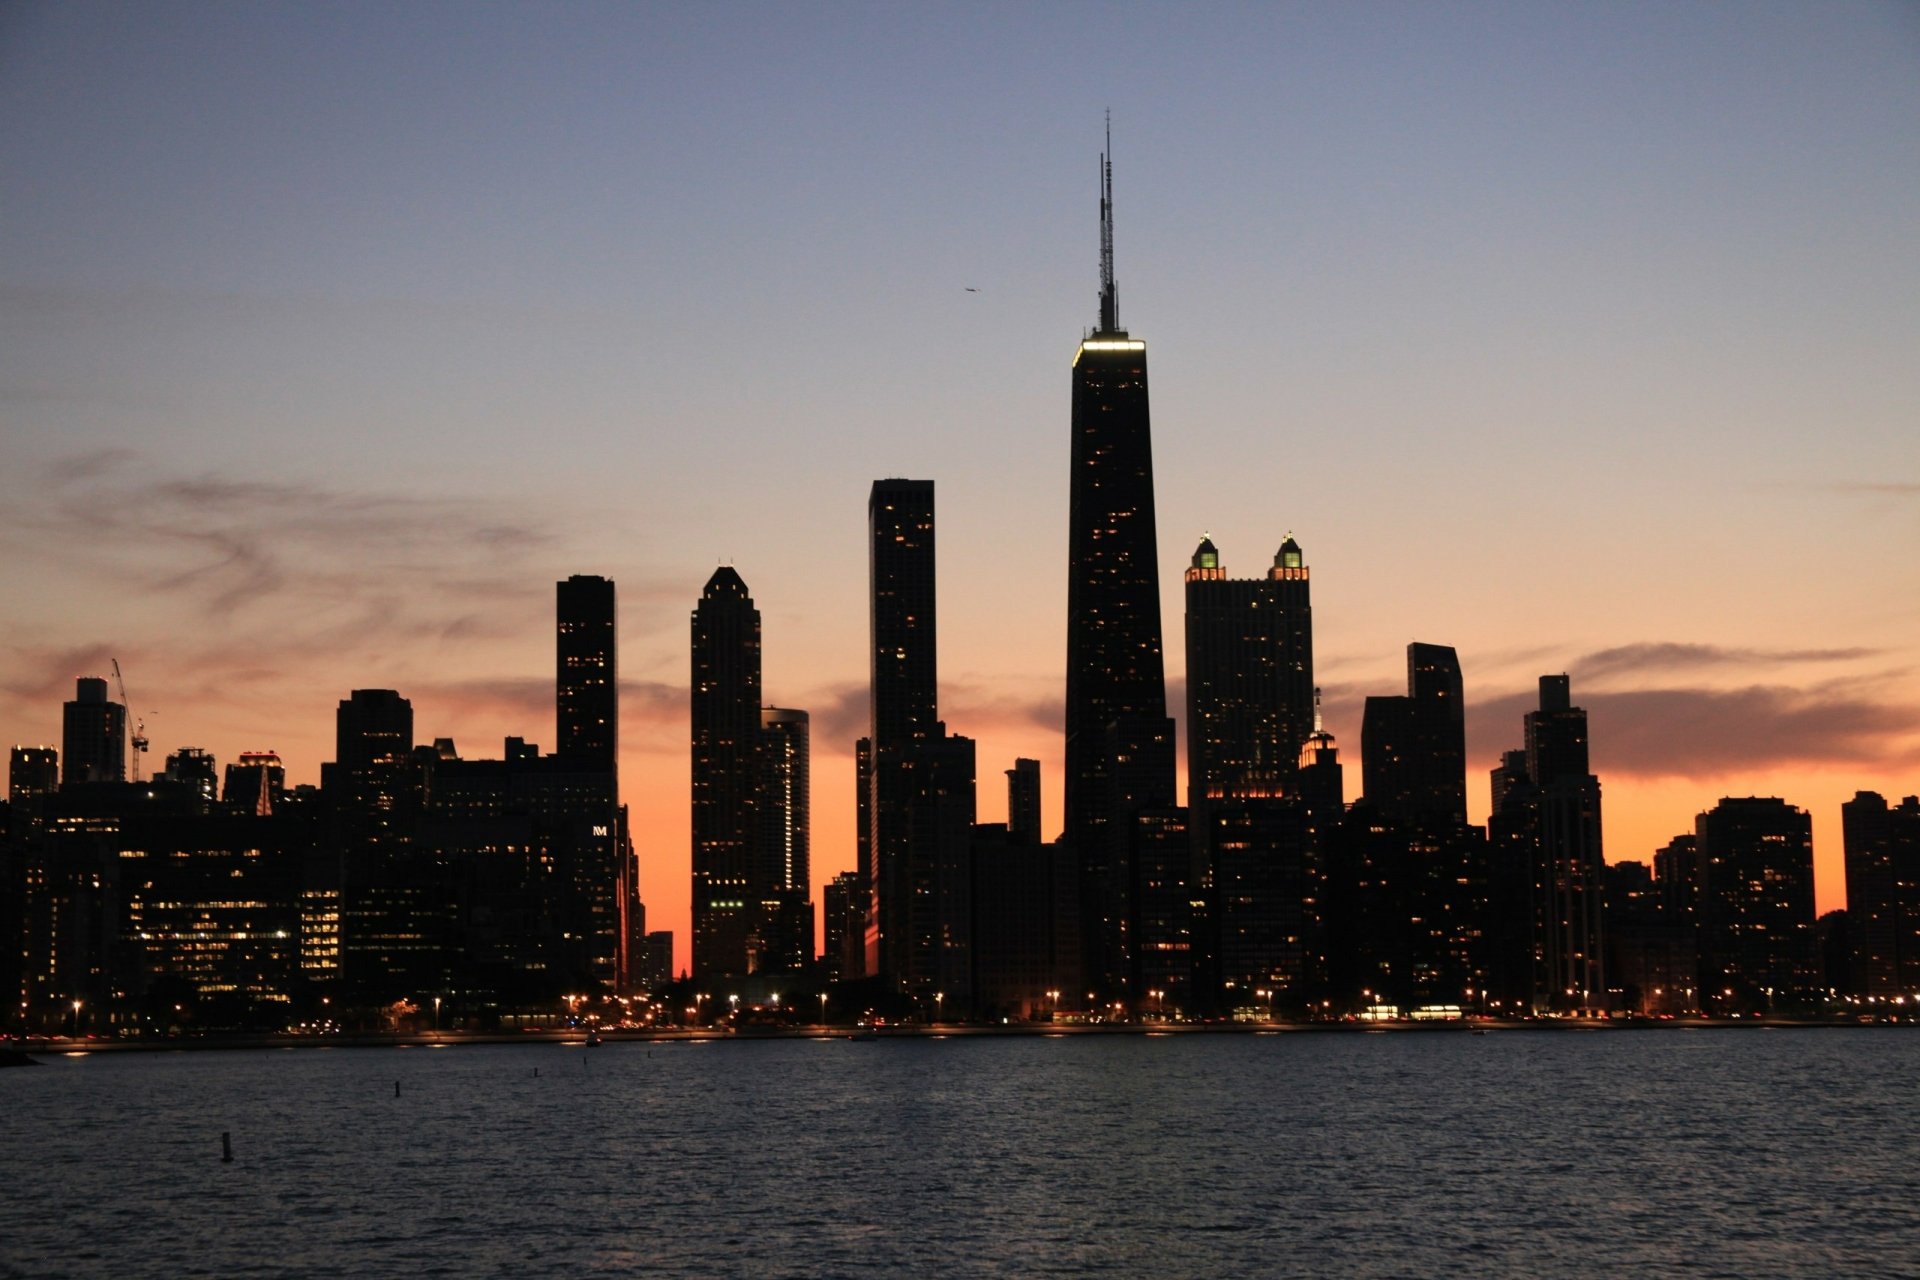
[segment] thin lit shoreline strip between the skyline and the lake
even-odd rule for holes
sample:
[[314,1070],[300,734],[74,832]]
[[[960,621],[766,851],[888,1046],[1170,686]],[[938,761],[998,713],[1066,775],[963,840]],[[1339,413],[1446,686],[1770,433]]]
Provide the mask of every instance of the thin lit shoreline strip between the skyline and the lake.
[[[755,1027],[730,1031],[714,1027],[674,1029],[601,1029],[603,1044],[680,1044],[680,1042],[745,1042],[745,1040],[958,1040],[958,1038],[1031,1038],[1031,1036],[1294,1036],[1294,1034],[1488,1034],[1515,1031],[1546,1032],[1636,1032],[1636,1031],[1812,1031],[1851,1029],[1884,1031],[1908,1023],[1862,1023],[1832,1017],[1751,1017],[1751,1019],[1457,1019],[1457,1021],[1377,1021],[1377,1023],[1020,1023],[972,1025],[937,1023],[912,1027]],[[344,1034],[204,1034],[167,1038],[71,1038],[71,1036],[8,1036],[0,1050],[23,1055],[88,1055],[88,1054],[196,1054],[234,1050],[363,1050],[363,1048],[455,1048],[468,1044],[545,1044],[588,1048],[580,1029],[553,1031],[438,1031],[438,1032],[344,1032]]]

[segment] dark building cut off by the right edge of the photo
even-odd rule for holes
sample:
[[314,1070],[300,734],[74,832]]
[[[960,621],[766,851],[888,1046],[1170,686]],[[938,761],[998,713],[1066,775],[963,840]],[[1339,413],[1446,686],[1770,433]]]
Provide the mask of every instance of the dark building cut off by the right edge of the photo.
[[1920,796],[1889,806],[1859,791],[1839,806],[1851,990],[1876,1002],[1920,992]]

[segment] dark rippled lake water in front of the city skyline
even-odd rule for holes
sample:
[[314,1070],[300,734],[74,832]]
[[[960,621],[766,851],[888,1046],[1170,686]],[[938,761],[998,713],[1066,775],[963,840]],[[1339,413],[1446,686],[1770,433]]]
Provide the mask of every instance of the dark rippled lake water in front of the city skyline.
[[1920,1274],[1907,1029],[46,1061],[10,1278]]

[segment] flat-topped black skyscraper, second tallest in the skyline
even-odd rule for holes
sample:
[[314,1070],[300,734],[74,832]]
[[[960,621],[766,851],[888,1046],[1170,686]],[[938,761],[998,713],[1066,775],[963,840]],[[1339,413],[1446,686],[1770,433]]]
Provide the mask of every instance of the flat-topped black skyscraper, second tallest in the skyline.
[[914,756],[945,737],[933,616],[933,482],[876,480],[866,505],[872,672],[868,971],[908,977]]

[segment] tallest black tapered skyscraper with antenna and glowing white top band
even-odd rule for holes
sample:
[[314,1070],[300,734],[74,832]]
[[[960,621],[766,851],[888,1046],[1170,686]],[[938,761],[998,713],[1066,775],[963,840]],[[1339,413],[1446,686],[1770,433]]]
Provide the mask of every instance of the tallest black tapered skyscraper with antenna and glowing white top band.
[[1114,169],[1100,157],[1100,324],[1073,357],[1066,833],[1081,860],[1087,981],[1127,983],[1131,825],[1173,794],[1146,344],[1119,326]]

